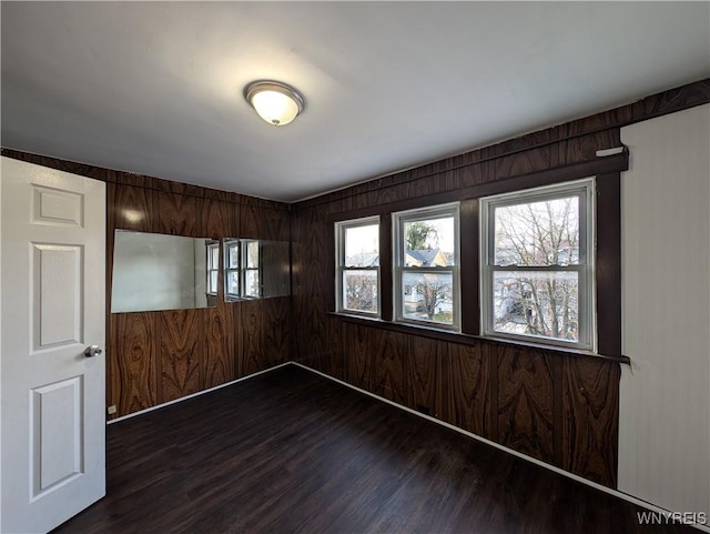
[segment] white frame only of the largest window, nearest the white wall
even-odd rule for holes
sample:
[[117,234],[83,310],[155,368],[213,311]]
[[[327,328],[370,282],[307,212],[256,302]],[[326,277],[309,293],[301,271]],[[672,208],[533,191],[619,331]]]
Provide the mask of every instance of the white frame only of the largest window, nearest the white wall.
[[[479,295],[480,335],[597,351],[597,272],[596,272],[596,191],[595,177],[566,181],[551,185],[511,191],[479,199]],[[579,258],[568,265],[496,265],[495,210],[509,205],[544,202],[561,198],[579,199]],[[562,340],[545,335],[501,332],[495,329],[494,276],[496,272],[576,272],[578,276],[578,340]]]

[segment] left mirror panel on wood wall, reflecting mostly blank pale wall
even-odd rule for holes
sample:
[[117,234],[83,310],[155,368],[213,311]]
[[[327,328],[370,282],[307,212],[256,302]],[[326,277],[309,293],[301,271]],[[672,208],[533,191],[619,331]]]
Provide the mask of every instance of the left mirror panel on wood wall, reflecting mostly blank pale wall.
[[116,230],[111,312],[216,304],[220,242]]

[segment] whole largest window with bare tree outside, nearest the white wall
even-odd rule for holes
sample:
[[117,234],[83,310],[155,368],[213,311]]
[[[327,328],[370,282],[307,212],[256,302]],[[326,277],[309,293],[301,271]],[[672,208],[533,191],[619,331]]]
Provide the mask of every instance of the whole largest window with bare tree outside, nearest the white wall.
[[594,179],[481,199],[481,333],[595,349]]

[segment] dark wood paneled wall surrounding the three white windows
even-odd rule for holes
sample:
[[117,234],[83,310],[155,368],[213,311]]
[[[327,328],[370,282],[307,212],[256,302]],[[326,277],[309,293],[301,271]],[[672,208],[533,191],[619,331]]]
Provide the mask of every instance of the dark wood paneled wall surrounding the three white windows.
[[[477,435],[615,487],[620,364],[485,340],[443,341],[331,314],[333,219],[485,190],[595,161],[620,127],[710,101],[710,80],[293,206],[294,357]],[[462,198],[465,197],[462,193]],[[465,239],[465,236],[464,236]],[[600,341],[600,344],[604,340]]]

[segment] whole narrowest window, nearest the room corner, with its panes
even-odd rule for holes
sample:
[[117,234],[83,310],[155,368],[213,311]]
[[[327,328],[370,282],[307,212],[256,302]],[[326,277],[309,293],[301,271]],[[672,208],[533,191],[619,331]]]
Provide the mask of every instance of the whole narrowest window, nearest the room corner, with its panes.
[[379,218],[335,223],[336,308],[379,315]]

